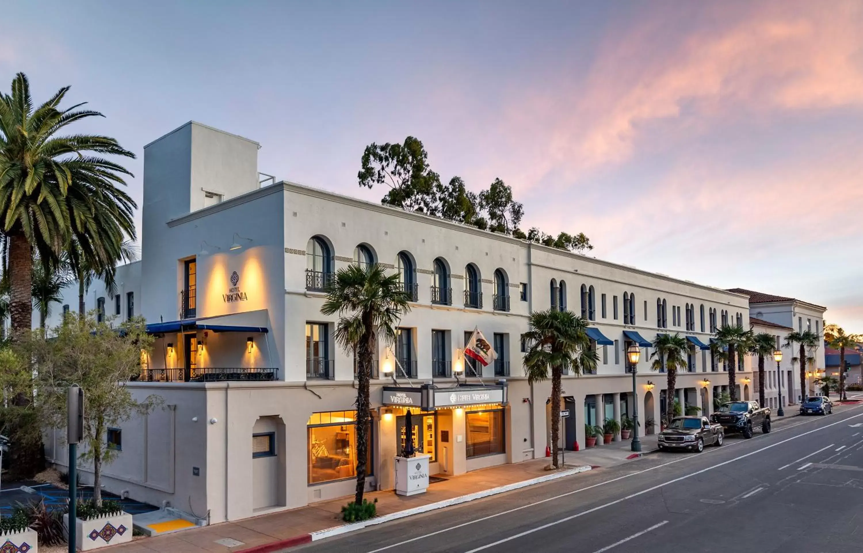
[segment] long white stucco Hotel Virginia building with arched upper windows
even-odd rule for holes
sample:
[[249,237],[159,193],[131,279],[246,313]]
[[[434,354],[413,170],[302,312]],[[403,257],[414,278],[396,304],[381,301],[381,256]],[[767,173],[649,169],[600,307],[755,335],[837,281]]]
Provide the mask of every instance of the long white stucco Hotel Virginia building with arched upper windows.
[[[211,522],[352,493],[354,362],[320,307],[332,273],[354,262],[400,272],[414,298],[397,342],[378,344],[369,488],[394,486],[408,408],[431,474],[545,455],[551,383],[528,385],[521,363],[531,311],[567,308],[594,325],[596,372],[564,376],[557,399],[572,413],[568,448],[583,446],[585,423],[633,413],[631,342],[643,348],[642,421],[658,427],[665,404],[665,375],[649,368],[658,333],[692,344],[677,377],[681,403],[709,412],[727,385],[707,344],[716,325],[748,320],[746,294],[290,182],[261,186],[258,148],[198,123],[145,147],[142,261],[120,268],[116,297],[93,286],[87,308],[147,318],[154,351],[129,386],[161,394],[166,407],[116,429],[110,491]],[[77,292],[66,293],[76,309]],[[475,329],[498,360],[457,380]],[[749,361],[738,382],[740,397],[753,398],[746,378]],[[60,438],[47,445],[65,465]]]

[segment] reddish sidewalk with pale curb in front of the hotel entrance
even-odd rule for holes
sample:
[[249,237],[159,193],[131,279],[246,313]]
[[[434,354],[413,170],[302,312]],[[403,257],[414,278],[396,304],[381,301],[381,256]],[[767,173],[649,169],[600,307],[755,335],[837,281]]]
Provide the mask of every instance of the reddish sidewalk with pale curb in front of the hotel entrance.
[[[446,480],[431,484],[428,492],[412,497],[396,495],[393,491],[366,493],[365,496],[370,501],[378,500],[377,513],[379,517],[384,517],[407,510],[422,510],[424,506],[446,506],[457,501],[473,499],[472,497],[465,497],[471,496],[471,494],[482,494],[487,491],[502,493],[511,487],[532,485],[539,483],[539,481],[566,475],[561,474],[561,472],[545,470],[548,464],[548,459],[536,459],[483,468],[459,476],[446,476]],[[567,457],[567,465],[568,468],[572,465],[569,456]],[[587,468],[589,467],[584,469]],[[574,473],[575,471],[570,469],[569,472]],[[108,548],[108,550],[123,553],[279,550],[290,545],[284,543],[283,540],[296,539],[296,544],[300,544],[310,541],[312,532],[333,530],[334,527],[342,526],[341,510],[348,501],[350,498],[322,501],[312,506],[245,518],[236,522],[198,527],[155,537],[137,538],[129,544],[116,545]],[[266,546],[269,544],[277,546],[274,549],[268,549]]]

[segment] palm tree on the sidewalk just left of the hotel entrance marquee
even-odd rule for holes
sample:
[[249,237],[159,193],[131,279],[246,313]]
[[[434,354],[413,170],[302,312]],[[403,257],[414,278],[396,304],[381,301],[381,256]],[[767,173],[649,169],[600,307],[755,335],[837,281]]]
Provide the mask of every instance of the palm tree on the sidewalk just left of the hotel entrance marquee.
[[362,505],[366,487],[366,460],[369,456],[369,380],[378,336],[395,341],[401,313],[411,311],[409,294],[402,291],[399,275],[387,276],[375,263],[368,267],[350,265],[339,269],[327,287],[321,313],[338,313],[336,341],[356,353],[356,494],[354,503]]

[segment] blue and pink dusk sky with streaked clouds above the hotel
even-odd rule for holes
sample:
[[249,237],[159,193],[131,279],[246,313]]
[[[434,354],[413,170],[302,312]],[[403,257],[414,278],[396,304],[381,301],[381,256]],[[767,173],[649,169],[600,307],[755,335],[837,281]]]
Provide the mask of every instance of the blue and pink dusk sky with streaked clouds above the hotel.
[[189,120],[374,201],[362,149],[414,135],[442,179],[511,185],[524,228],[863,332],[860,0],[9,0],[0,90],[18,71],[104,113],[79,130],[138,154],[139,204],[144,144]]

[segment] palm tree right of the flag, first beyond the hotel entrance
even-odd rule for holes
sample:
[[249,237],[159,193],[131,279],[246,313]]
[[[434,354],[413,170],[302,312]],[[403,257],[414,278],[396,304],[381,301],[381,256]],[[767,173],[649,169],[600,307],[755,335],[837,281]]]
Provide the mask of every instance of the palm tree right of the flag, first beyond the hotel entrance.
[[530,384],[548,378],[551,368],[551,464],[557,464],[560,436],[560,379],[564,370],[573,374],[592,371],[599,357],[590,349],[588,322],[572,311],[534,311],[527,321],[525,373]]

